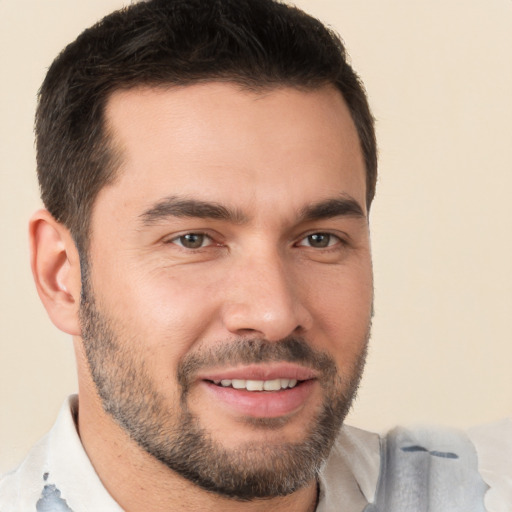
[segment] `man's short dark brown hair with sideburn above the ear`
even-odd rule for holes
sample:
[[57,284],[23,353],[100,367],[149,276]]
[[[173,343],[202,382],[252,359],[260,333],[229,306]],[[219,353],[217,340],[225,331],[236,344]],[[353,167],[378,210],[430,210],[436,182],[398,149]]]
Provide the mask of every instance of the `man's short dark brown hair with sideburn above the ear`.
[[276,0],[150,0],[85,30],[51,65],[36,114],[41,196],[79,249],[100,189],[115,178],[104,123],[115,90],[230,81],[250,89],[333,84],[355,123],[366,164],[366,200],[377,177],[374,121],[340,38]]

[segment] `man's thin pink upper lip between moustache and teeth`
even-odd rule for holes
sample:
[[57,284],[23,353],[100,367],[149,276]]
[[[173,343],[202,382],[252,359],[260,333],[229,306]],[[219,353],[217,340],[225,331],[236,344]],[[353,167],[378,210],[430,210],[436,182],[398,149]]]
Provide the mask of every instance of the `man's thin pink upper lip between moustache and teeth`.
[[295,363],[266,363],[235,366],[233,368],[212,369],[200,373],[199,380],[219,381],[223,379],[274,380],[296,379],[310,380],[317,377],[317,372]]

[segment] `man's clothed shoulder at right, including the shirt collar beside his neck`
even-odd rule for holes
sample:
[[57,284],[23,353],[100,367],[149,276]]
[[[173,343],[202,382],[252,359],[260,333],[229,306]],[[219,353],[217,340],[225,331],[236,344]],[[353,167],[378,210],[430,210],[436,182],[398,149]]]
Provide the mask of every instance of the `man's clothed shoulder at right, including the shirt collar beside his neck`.
[[320,473],[319,510],[343,503],[410,512],[437,503],[439,511],[511,512],[510,461],[512,419],[468,431],[397,427],[385,435],[344,426]]

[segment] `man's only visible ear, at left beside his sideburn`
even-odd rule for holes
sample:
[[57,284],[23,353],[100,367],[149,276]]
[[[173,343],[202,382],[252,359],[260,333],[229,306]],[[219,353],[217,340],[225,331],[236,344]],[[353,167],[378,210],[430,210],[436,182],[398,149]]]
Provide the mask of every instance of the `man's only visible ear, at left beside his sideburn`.
[[80,335],[80,258],[69,230],[47,210],[30,219],[30,263],[37,293],[52,322]]

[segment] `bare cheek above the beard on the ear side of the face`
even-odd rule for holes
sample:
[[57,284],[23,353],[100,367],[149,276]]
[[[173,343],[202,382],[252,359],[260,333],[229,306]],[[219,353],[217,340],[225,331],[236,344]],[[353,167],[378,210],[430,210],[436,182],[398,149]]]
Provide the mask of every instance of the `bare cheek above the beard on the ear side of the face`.
[[176,274],[123,269],[120,264],[94,276],[98,306],[108,312],[120,342],[135,343],[134,351],[155,359],[155,365],[161,360],[166,368],[174,368],[198,341],[216,309],[216,299],[209,292],[212,285],[205,276]]

